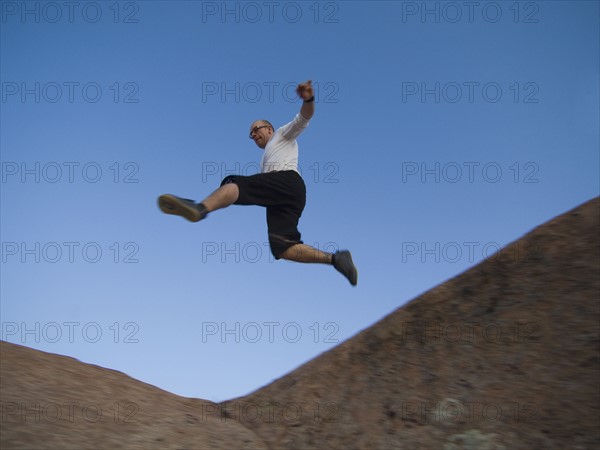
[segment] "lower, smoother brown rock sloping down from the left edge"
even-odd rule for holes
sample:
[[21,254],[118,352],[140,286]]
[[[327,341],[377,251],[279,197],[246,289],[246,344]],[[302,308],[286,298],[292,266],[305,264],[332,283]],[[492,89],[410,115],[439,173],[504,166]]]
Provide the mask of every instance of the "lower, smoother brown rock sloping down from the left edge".
[[266,449],[214,403],[114,370],[0,343],[0,448]]

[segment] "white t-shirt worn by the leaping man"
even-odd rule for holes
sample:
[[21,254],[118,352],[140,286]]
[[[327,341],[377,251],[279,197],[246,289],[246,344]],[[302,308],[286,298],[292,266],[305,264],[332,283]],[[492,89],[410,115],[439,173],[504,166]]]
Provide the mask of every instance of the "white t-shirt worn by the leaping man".
[[273,133],[265,146],[260,162],[262,173],[276,170],[298,172],[298,142],[296,142],[296,138],[308,126],[308,122],[302,114],[298,113],[290,123]]

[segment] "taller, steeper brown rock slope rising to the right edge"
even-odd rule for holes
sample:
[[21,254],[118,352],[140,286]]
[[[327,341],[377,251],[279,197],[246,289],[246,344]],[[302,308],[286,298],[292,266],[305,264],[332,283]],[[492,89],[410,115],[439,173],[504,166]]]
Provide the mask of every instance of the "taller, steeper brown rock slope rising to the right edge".
[[538,227],[223,413],[273,449],[600,448],[599,216]]

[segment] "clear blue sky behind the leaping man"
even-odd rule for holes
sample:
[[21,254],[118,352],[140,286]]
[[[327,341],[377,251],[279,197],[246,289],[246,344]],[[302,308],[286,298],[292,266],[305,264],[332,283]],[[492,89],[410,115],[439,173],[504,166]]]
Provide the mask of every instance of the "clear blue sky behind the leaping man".
[[[226,400],[598,195],[596,1],[0,3],[3,340]],[[256,173],[307,79],[300,231],[356,288],[156,207]]]

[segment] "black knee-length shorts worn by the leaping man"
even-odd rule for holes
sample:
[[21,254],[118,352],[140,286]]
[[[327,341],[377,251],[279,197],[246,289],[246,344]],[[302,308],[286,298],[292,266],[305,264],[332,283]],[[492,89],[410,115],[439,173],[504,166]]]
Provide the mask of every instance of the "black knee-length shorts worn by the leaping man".
[[269,246],[276,259],[292,245],[302,244],[298,221],[306,205],[306,185],[298,172],[230,175],[223,179],[221,186],[228,183],[237,184],[240,190],[236,205],[267,208]]

